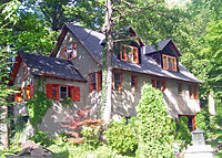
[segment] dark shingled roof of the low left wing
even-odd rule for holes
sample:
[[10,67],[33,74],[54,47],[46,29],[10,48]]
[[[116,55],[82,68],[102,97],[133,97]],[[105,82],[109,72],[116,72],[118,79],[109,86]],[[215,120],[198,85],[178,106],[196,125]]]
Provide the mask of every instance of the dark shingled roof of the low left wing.
[[36,75],[85,81],[70,61],[28,53],[19,54],[27,66],[30,67],[30,71]]

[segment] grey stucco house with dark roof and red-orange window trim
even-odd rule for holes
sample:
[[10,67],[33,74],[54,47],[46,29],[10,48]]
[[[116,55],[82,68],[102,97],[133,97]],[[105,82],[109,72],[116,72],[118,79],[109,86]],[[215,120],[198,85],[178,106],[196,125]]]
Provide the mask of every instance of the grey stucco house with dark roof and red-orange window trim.
[[[137,35],[132,28],[128,31]],[[50,56],[18,54],[10,84],[19,85],[21,93],[16,94],[14,99],[31,98],[40,78],[44,81],[42,91],[53,99],[38,126],[40,130],[62,133],[61,124],[65,118],[73,117],[74,112],[84,106],[91,107],[92,116],[100,117],[104,38],[101,32],[64,23]],[[117,48],[112,59],[112,118],[135,116],[141,87],[150,83],[163,92],[169,115],[173,118],[186,116],[189,127],[194,129],[201,82],[180,64],[182,54],[174,42],[164,40],[145,45],[139,39]],[[61,105],[64,97],[72,99],[72,107]]]

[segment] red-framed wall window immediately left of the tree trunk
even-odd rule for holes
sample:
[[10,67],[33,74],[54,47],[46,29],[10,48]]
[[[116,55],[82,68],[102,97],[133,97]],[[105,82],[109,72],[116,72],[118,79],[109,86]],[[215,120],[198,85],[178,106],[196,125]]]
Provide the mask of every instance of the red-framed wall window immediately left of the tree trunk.
[[102,89],[102,72],[95,72],[89,75],[90,92]]

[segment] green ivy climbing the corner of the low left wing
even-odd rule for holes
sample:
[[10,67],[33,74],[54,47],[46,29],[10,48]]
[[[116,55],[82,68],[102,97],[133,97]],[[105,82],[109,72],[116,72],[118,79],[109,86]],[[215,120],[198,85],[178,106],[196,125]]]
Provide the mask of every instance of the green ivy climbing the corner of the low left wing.
[[47,109],[52,105],[52,101],[41,91],[34,92],[34,97],[28,101],[27,107],[31,124],[37,128],[37,125],[41,123],[42,117],[47,113]]

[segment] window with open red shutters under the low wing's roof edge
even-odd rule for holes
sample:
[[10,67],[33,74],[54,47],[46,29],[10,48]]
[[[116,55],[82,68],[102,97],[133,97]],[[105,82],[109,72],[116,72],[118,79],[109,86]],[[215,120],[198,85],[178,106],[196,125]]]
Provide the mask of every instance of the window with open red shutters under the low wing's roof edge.
[[50,98],[70,97],[72,101],[80,101],[80,87],[59,84],[47,84],[46,87],[47,96]]

